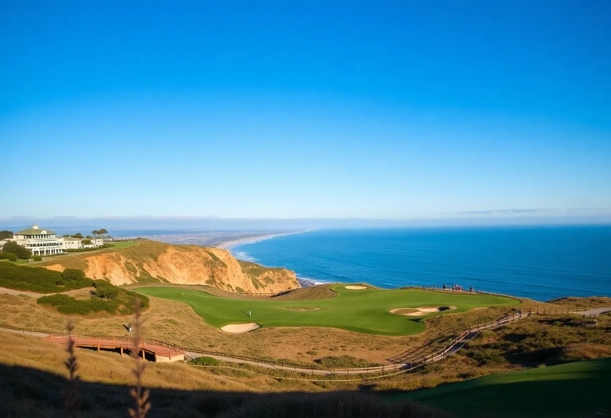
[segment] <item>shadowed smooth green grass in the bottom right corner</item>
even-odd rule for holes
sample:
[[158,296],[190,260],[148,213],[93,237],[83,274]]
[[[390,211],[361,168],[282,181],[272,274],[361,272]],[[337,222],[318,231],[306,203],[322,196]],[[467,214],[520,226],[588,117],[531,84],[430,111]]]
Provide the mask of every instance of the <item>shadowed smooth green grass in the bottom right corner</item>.
[[603,358],[500,373],[389,398],[417,400],[464,417],[593,417],[611,412],[610,373],[611,358]]

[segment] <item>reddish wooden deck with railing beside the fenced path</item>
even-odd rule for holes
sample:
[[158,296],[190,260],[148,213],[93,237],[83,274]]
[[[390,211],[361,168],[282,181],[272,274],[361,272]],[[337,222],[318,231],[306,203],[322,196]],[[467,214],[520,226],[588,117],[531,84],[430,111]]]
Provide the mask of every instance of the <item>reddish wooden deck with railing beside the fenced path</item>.
[[[50,341],[67,345],[67,336],[49,336]],[[98,337],[81,337],[73,336],[76,347],[96,348],[100,350],[119,350],[123,355],[124,350],[132,350],[134,343],[128,339],[117,338],[98,338]],[[164,347],[161,344],[141,342],[137,347],[138,355],[145,359],[145,354],[154,356],[156,362],[170,362],[185,359],[185,351],[179,348]]]

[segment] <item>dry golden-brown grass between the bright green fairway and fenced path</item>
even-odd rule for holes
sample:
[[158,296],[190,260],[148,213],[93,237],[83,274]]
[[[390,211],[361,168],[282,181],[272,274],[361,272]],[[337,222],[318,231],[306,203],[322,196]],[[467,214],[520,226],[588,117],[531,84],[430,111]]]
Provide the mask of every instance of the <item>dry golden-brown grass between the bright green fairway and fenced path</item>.
[[[549,305],[526,301],[525,307]],[[426,320],[426,331],[416,336],[379,336],[334,328],[262,328],[246,334],[227,334],[208,325],[190,306],[168,299],[151,298],[144,312],[146,336],[183,347],[239,354],[259,359],[288,359],[304,363],[326,356],[347,354],[378,364],[422,346],[430,340],[459,333],[460,329],[507,315],[514,308],[498,307],[447,314]],[[67,317],[40,306],[27,296],[0,295],[0,326],[63,332]],[[76,334],[128,337],[123,328],[132,319],[106,313],[75,317]],[[442,341],[439,343],[443,343]]]

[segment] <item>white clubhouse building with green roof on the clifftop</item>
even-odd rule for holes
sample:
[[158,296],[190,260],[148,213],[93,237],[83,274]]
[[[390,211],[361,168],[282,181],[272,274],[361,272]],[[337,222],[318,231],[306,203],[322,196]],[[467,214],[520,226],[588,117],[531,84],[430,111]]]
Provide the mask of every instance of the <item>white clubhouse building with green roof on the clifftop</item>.
[[13,233],[12,240],[25,248],[32,250],[32,255],[55,255],[67,252],[68,249],[99,247],[103,241],[98,238],[91,240],[91,244],[82,244],[82,238],[57,237],[55,232],[40,229],[32,225],[30,229]]

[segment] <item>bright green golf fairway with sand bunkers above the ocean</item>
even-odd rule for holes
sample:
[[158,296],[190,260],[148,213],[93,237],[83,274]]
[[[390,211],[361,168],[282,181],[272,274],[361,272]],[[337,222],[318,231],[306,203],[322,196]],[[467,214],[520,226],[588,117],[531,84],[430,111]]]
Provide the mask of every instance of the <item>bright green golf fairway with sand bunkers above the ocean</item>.
[[[335,285],[335,298],[315,301],[219,298],[197,290],[175,287],[140,287],[148,296],[174,299],[189,304],[212,326],[255,322],[271,326],[324,326],[387,336],[406,336],[424,331],[422,318],[444,315],[431,312],[423,317],[391,314],[396,308],[456,306],[446,312],[465,312],[475,307],[517,305],[517,299],[463,292],[432,292],[417,289],[349,290]],[[184,295],[184,296],[183,296]],[[313,309],[318,308],[318,309]],[[252,318],[249,317],[252,312]]]

